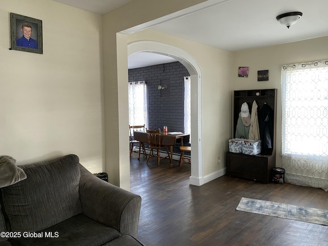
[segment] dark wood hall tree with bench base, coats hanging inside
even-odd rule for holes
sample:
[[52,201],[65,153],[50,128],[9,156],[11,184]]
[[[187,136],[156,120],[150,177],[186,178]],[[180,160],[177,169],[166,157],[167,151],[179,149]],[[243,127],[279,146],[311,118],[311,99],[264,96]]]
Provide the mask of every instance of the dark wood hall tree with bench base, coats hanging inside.
[[[242,90],[234,91],[233,124],[234,136],[236,133],[237,120],[240,107],[247,103],[252,114],[253,101],[258,106],[258,115],[262,107],[266,104],[272,109],[273,134],[272,148],[263,148],[261,154],[246,155],[242,153],[227,152],[226,166],[227,175],[256,180],[264,183],[272,181],[272,168],[276,166],[276,115],[277,115],[277,89],[264,90]],[[262,143],[263,144],[263,143]]]

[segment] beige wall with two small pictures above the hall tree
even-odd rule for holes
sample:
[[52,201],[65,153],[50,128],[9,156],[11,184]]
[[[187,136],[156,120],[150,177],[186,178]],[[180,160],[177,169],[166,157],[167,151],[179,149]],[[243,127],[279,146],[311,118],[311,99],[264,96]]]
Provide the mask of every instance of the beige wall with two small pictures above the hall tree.
[[[281,65],[326,59],[328,36],[300,42],[234,52],[233,90],[278,89],[276,166],[281,167]],[[248,66],[248,78],[237,77],[238,67]],[[269,81],[257,81],[258,70],[269,70]],[[232,135],[232,133],[231,133]]]

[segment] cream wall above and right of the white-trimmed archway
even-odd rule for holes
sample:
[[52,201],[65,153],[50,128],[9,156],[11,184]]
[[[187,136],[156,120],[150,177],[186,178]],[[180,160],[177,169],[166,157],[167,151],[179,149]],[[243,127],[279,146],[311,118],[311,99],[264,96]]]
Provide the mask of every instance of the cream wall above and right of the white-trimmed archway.
[[[128,36],[128,43],[152,40],[189,53],[202,71],[203,176],[224,168],[224,152],[230,137],[232,52],[191,42],[160,32],[146,30]],[[197,120],[197,119],[193,119]],[[195,139],[197,140],[197,139]],[[218,163],[217,156],[221,157]]]

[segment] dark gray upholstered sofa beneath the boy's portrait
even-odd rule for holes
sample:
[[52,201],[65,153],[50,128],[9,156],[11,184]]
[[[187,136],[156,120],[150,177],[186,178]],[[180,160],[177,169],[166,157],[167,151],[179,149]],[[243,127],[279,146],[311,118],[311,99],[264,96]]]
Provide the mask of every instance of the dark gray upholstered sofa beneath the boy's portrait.
[[141,197],[94,176],[76,155],[18,167],[26,179],[0,189],[0,246],[143,245]]

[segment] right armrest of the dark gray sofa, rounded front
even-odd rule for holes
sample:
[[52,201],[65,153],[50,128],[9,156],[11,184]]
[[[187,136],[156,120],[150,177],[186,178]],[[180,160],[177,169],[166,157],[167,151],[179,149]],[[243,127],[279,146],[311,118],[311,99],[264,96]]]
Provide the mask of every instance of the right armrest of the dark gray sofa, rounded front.
[[137,237],[141,197],[101,180],[80,165],[82,212],[95,221]]

